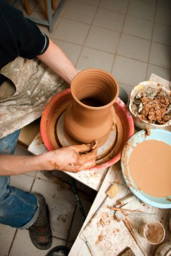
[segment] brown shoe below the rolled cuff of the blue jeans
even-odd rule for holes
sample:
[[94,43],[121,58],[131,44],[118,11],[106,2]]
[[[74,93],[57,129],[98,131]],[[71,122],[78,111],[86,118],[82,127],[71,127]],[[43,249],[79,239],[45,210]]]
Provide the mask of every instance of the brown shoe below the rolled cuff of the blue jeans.
[[48,205],[41,194],[35,193],[35,195],[40,203],[40,211],[36,222],[28,229],[30,238],[35,247],[40,250],[46,250],[52,245],[53,239],[50,229]]

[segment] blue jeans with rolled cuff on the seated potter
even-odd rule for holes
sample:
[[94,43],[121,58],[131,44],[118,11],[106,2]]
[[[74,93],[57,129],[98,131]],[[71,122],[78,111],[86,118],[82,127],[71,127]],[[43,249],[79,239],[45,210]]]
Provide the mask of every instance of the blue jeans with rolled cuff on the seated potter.
[[[13,154],[20,131],[0,139],[0,154]],[[36,196],[9,185],[10,177],[0,176],[0,223],[26,229],[36,221],[39,212]]]

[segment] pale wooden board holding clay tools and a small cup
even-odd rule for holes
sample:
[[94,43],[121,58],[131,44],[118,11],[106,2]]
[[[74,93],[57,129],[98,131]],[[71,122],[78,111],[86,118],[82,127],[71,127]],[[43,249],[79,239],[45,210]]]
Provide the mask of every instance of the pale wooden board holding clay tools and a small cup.
[[[102,201],[105,199],[106,190],[112,182],[119,183],[121,185],[121,189],[116,198],[114,198],[113,200],[108,199],[105,205],[110,205],[111,203],[114,204],[116,202],[116,199],[122,198],[125,195],[131,193],[131,191],[127,189],[125,181],[123,181],[123,175],[121,172],[120,164],[115,164],[114,166],[111,166],[108,170],[108,173],[106,174],[102,187],[100,187],[98,195],[90,209],[88,217],[86,218],[86,221],[84,222],[83,227],[81,228],[81,231],[79,232],[79,235],[77,236],[77,239],[73,247],[71,248],[69,256],[91,255],[90,251],[88,251],[88,247],[85,241],[88,241],[92,249],[93,256],[118,255],[118,253],[123,251],[125,247],[131,247],[131,249],[135,252],[135,255],[143,255],[141,253],[141,250],[133,240],[133,237],[131,237],[129,230],[127,230],[125,224],[123,224],[123,220],[121,220],[121,222],[116,222],[116,220],[114,220],[114,218],[112,218],[111,216],[111,218],[109,218],[108,221],[106,221],[106,223],[108,223],[107,225],[100,225],[100,218],[102,218],[102,214],[105,214],[106,211],[105,206],[98,210],[98,214],[95,215],[95,217],[92,219],[92,216],[94,215],[98,207],[101,205]],[[141,206],[140,210],[142,210],[145,213],[152,213],[153,215],[129,215],[128,218],[129,220],[131,220],[133,230],[135,230],[135,236],[137,236],[138,240],[141,243],[141,246],[143,247],[147,255],[151,256],[154,255],[154,252],[159,247],[159,245],[155,246],[147,243],[147,241],[145,241],[144,238],[139,236],[137,232],[138,227],[140,226],[140,224],[143,224],[149,220],[158,220],[159,222],[162,222],[162,224],[166,228],[166,237],[164,239],[164,242],[170,241],[171,232],[169,230],[169,219],[171,215],[171,210],[162,210],[145,204],[144,206]],[[88,224],[89,221],[90,224]],[[104,236],[101,242],[99,241],[100,235]]]

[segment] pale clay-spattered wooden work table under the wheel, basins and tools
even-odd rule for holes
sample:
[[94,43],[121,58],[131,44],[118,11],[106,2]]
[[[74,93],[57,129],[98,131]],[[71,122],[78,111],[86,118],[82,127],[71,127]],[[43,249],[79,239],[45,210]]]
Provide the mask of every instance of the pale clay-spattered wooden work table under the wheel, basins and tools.
[[[151,75],[149,80],[164,84],[164,86],[170,86],[170,82],[154,74]],[[46,148],[42,142],[40,133],[38,133],[32,143],[30,143],[28,150],[35,155],[46,152]],[[147,243],[147,241],[145,241],[144,238],[139,236],[137,232],[140,224],[150,220],[158,220],[164,225],[166,236],[162,243],[170,241],[171,232],[169,230],[169,219],[171,216],[171,210],[158,209],[156,207],[146,205],[145,203],[142,206],[142,210],[145,213],[149,213],[149,215],[135,216],[129,214],[127,217],[132,226],[132,234],[129,228],[125,226],[125,222],[123,222],[123,220],[121,223],[116,223],[113,216],[110,216],[110,225],[107,224],[107,226],[100,226],[99,218],[100,214],[103,214],[106,211],[105,205],[112,206],[116,203],[117,199],[121,199],[125,197],[125,195],[131,194],[131,191],[123,180],[120,162],[110,166],[110,168],[96,170],[96,172],[81,171],[76,174],[71,172],[66,173],[77,181],[80,181],[88,187],[98,191],[98,195],[96,196],[90,212],[83,223],[73,247],[71,248],[69,256],[113,256],[118,255],[125,247],[131,247],[136,256],[152,256],[159,245],[150,245]],[[106,196],[106,190],[108,187],[110,187],[111,183],[118,183],[119,186],[118,195],[116,195],[116,198],[114,199],[110,199]],[[98,212],[96,212],[97,210]],[[92,218],[92,216],[94,216],[94,218]],[[112,231],[111,228],[113,228]],[[105,241],[105,239],[100,241],[98,239],[100,236],[102,236],[103,232],[106,232],[105,239],[108,239],[108,241]],[[133,238],[133,236],[135,236],[138,243],[137,241],[135,242],[136,239]],[[113,248],[115,251],[113,251],[113,253],[108,253],[109,247]]]

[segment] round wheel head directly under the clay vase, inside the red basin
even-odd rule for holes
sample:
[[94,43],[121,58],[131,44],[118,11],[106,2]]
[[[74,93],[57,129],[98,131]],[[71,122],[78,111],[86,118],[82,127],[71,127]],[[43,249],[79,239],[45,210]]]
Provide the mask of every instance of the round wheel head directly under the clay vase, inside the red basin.
[[[76,141],[69,135],[69,133],[67,133],[67,130],[65,129],[65,125],[64,125],[64,116],[65,116],[65,111],[61,114],[59,119],[57,119],[57,123],[55,125],[57,143],[61,144],[59,146],[71,146],[71,145],[81,144],[81,142]],[[104,158],[105,156],[107,156],[111,152],[112,148],[114,148],[115,143],[116,143],[116,126],[114,127],[113,130],[110,131],[110,134],[106,142],[98,148],[96,160],[98,161]]]

